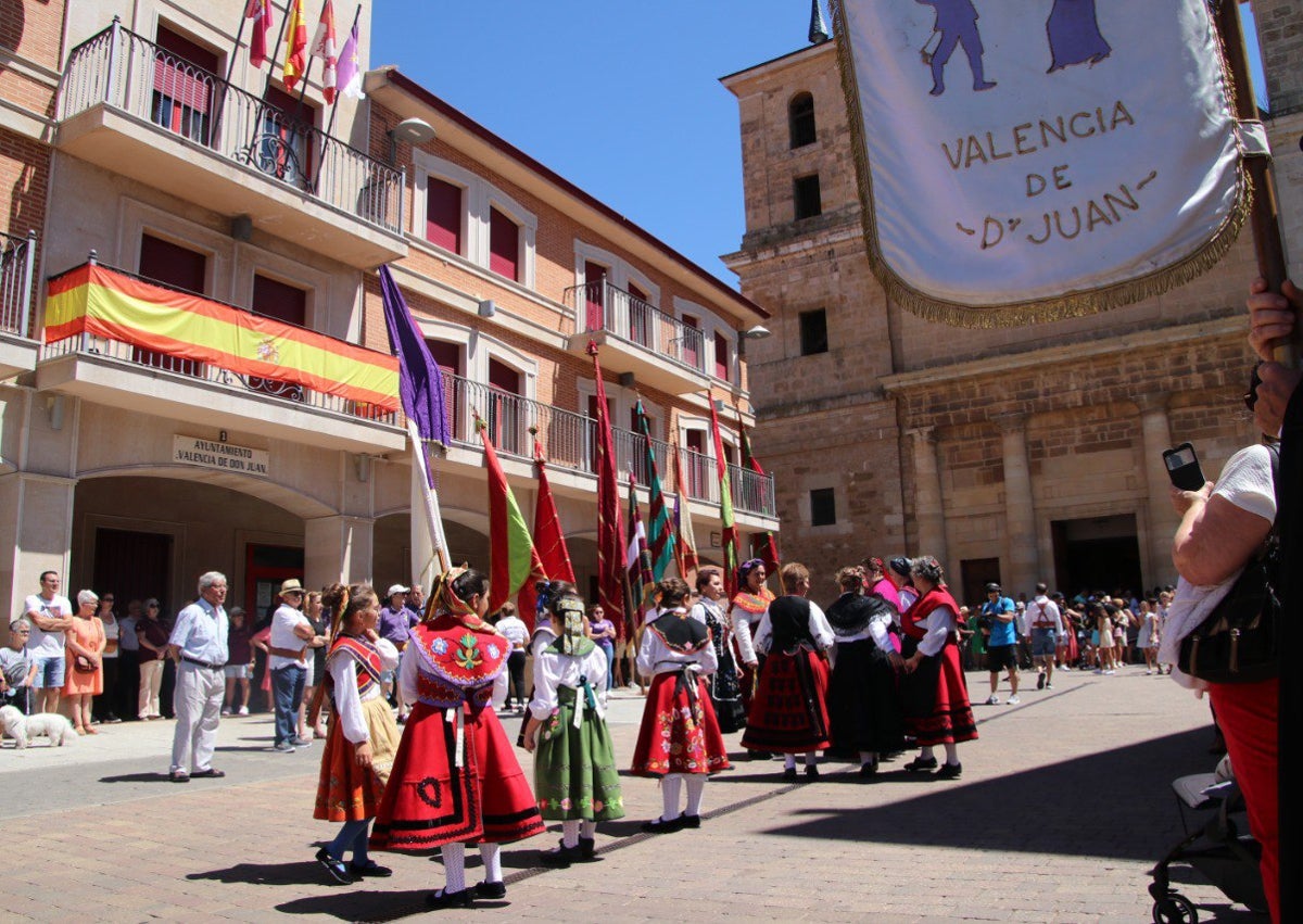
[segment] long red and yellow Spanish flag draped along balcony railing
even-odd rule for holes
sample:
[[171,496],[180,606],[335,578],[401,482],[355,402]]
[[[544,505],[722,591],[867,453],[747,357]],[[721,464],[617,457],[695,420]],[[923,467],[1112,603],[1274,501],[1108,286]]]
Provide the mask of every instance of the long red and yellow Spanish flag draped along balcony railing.
[[52,279],[46,343],[90,334],[357,401],[399,407],[397,360],[315,331],[85,263]]

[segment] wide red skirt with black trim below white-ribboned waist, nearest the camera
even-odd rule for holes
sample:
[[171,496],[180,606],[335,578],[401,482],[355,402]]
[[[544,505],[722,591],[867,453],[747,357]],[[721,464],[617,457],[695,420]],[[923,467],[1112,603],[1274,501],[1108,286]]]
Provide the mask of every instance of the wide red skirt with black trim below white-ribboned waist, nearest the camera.
[[442,709],[408,717],[371,830],[371,847],[429,851],[446,843],[508,843],[543,833],[520,761],[491,708],[463,709],[465,766]]

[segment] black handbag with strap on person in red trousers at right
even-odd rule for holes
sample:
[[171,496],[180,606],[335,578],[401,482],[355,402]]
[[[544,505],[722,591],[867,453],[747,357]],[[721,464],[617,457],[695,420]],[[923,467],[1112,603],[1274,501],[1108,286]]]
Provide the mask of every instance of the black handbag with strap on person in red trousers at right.
[[[1277,487],[1280,451],[1272,455],[1272,490],[1280,521]],[[1281,537],[1277,523],[1244,566],[1230,592],[1194,632],[1181,640],[1181,670],[1207,683],[1257,683],[1280,674]]]

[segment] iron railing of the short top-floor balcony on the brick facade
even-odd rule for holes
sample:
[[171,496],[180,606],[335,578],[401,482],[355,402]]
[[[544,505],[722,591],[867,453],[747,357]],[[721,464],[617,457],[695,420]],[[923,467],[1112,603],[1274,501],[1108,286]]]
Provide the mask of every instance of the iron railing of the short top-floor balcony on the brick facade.
[[642,347],[658,358],[706,374],[706,340],[700,330],[666,314],[606,278],[572,285],[566,298],[584,331],[606,331]]

